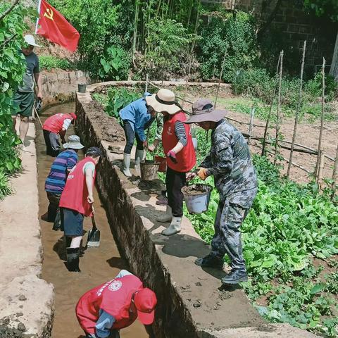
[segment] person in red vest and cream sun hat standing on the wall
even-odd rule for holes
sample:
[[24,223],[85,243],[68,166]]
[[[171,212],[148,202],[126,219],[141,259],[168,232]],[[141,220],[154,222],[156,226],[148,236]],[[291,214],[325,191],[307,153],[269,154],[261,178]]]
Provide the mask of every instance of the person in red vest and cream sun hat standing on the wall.
[[163,113],[162,144],[167,158],[167,173],[165,185],[167,187],[168,206],[165,215],[158,218],[158,222],[170,222],[170,226],[162,234],[170,236],[181,231],[183,216],[182,187],[186,184],[185,174],[196,163],[194,145],[189,125],[184,111],[175,102],[175,94],[168,89],[160,89],[157,94],[146,96],[146,104],[154,111]]

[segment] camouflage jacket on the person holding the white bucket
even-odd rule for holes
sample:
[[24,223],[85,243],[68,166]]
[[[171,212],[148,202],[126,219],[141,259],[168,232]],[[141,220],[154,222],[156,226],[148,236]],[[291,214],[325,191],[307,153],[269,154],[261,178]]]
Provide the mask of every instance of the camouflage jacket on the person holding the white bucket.
[[213,175],[220,199],[257,187],[249,146],[242,133],[226,120],[216,124],[210,154],[200,166]]

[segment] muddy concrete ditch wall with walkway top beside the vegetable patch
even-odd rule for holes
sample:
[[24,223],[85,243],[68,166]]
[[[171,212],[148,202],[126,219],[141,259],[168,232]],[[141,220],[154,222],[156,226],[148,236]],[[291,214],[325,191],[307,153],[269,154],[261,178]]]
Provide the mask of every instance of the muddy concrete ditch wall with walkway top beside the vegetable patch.
[[[164,227],[156,217],[164,207],[156,205],[156,196],[163,184],[142,182],[136,176],[127,179],[121,173],[122,154],[109,146],[121,150],[124,144],[101,138],[99,115],[104,112],[94,106],[90,95],[97,87],[77,94],[75,128],[86,146],[103,151],[96,186],[121,255],[158,296],[156,338],[315,337],[289,325],[264,323],[242,289],[220,289],[225,272],[194,265],[196,257],[205,256],[209,249],[186,218],[180,234],[161,235]],[[120,128],[113,118],[109,123]]]

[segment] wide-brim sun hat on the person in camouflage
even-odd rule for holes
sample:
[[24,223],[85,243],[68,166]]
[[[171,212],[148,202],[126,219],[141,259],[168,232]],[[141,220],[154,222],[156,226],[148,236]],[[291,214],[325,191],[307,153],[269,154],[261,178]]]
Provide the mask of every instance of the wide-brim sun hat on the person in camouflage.
[[192,105],[192,116],[184,121],[184,123],[218,122],[225,115],[227,115],[227,111],[215,109],[211,100],[199,99]]

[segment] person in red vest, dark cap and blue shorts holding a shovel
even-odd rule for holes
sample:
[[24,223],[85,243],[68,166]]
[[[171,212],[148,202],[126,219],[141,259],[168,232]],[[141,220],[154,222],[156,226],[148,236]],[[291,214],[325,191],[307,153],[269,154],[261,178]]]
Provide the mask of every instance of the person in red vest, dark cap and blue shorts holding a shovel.
[[94,203],[93,187],[96,164],[99,163],[101,150],[92,146],[86,157],[77,163],[65,181],[65,187],[59,203],[61,229],[65,232],[67,250],[67,268],[80,273],[80,244],[83,232],[84,216],[92,216]]

